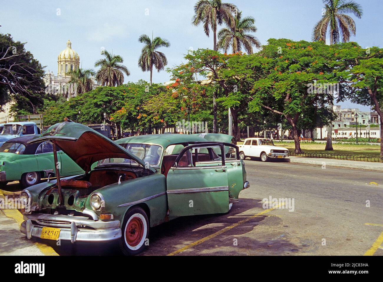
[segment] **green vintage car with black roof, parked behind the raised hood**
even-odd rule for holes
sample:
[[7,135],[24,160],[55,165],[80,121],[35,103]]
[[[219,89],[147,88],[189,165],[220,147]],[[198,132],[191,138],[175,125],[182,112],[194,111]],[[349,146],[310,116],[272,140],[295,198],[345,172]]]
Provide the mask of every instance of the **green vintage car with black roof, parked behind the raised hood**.
[[[0,187],[18,180],[26,188],[54,175],[53,149],[50,141],[28,143],[39,135],[16,137],[0,147]],[[62,150],[58,150],[60,174],[77,175],[84,171]]]

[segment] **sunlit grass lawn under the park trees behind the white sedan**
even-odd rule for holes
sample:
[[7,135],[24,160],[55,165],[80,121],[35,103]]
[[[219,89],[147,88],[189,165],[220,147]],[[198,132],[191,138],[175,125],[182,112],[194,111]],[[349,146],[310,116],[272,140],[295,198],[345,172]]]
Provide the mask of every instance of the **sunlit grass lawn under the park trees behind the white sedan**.
[[[243,142],[238,142],[237,145],[242,145]],[[294,142],[275,142],[276,146],[285,147],[289,151],[295,150]],[[308,153],[327,153],[327,154],[341,154],[362,157],[379,157],[379,145],[348,145],[333,143],[334,151],[325,151],[326,143],[308,143],[301,142],[301,149],[303,152]]]

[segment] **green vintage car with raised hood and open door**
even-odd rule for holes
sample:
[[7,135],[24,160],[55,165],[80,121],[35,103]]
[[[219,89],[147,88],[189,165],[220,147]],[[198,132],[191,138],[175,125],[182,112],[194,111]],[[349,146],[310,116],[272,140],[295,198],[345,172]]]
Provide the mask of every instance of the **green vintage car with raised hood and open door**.
[[30,204],[20,228],[28,239],[118,240],[124,254],[137,254],[151,227],[179,216],[227,213],[249,187],[238,148],[229,142],[160,134],[115,143],[74,122],[53,125],[31,142],[48,140],[85,173],[21,192]]

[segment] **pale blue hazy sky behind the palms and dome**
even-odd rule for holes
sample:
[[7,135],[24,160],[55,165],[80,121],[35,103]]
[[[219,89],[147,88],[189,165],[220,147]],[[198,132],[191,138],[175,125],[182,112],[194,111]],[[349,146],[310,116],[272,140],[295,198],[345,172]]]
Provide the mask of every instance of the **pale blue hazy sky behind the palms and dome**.
[[[362,19],[351,15],[356,23],[356,41],[363,48],[383,46],[383,0],[355,0],[362,5]],[[0,0],[0,33],[10,33],[14,40],[26,42],[46,71],[57,75],[57,55],[69,39],[80,56],[80,67],[94,68],[100,51],[105,48],[119,54],[131,73],[127,81],[149,80],[137,66],[142,43],[141,34],[160,36],[170,41],[161,48],[168,59],[167,67],[182,63],[190,49],[213,48],[213,37],[207,37],[202,26],[190,24],[197,0]],[[262,44],[269,38],[311,41],[311,32],[321,18],[321,0],[228,0],[237,5],[242,16],[255,18],[254,34]],[[153,73],[153,82],[169,80],[166,71]],[[340,103],[342,107],[368,107]]]

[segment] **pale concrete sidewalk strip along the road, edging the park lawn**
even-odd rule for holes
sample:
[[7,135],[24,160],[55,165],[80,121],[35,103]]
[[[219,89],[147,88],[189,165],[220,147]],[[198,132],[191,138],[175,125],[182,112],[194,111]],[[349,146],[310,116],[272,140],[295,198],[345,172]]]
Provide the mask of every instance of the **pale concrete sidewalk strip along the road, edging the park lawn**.
[[363,170],[375,170],[383,172],[383,163],[359,162],[350,160],[336,160],[329,158],[308,158],[308,157],[288,157],[285,159],[290,163],[302,163],[308,165],[326,165],[329,167],[357,168]]

